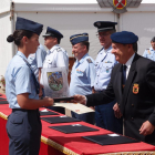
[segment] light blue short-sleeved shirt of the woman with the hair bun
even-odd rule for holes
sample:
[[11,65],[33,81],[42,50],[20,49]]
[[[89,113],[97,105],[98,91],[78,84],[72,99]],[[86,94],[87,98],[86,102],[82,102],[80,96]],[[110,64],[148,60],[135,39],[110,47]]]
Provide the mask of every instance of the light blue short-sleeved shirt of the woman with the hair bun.
[[17,95],[22,93],[29,93],[29,99],[39,100],[32,72],[23,59],[27,60],[25,55],[18,51],[6,71],[6,95],[10,108],[20,108]]

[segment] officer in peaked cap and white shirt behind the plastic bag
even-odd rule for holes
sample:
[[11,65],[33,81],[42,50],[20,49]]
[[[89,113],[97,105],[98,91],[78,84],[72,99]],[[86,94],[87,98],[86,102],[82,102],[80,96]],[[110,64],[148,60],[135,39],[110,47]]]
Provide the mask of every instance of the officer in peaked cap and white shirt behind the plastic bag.
[[[43,69],[65,66],[66,72],[68,72],[69,71],[69,56],[68,56],[66,51],[59,45],[61,42],[61,39],[63,38],[62,33],[55,29],[48,27],[46,32],[43,35],[43,38],[44,38],[44,45],[48,48],[46,56],[43,62]],[[41,84],[43,84],[42,75],[41,75]],[[48,108],[64,114],[64,108],[62,107],[52,106]]]

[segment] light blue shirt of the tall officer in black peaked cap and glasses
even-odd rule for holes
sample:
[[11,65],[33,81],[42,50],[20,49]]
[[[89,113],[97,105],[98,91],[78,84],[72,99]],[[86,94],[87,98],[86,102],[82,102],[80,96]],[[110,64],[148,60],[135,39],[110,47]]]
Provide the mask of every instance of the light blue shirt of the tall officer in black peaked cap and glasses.
[[111,53],[112,46],[104,50],[102,49],[95,60],[96,78],[94,82],[95,91],[103,91],[106,89],[111,80],[111,72],[114,65],[117,63],[115,55]]

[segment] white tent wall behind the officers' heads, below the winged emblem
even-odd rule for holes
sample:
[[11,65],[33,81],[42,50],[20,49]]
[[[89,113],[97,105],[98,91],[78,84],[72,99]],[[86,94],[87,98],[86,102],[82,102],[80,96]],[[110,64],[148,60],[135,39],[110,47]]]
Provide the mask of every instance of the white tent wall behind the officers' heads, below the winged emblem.
[[[95,59],[100,45],[96,38],[97,29],[93,25],[95,21],[118,21],[116,14],[108,12],[18,12],[19,17],[28,18],[37,22],[43,23],[43,32],[46,27],[59,30],[64,38],[61,41],[61,46],[64,48],[69,56],[72,56],[72,45],[70,37],[76,33],[87,32],[90,35],[90,55]],[[144,50],[151,46],[151,39],[155,35],[155,11],[128,11],[120,16],[120,31],[132,31],[138,35],[138,53],[143,54]],[[40,42],[44,40],[40,37]]]

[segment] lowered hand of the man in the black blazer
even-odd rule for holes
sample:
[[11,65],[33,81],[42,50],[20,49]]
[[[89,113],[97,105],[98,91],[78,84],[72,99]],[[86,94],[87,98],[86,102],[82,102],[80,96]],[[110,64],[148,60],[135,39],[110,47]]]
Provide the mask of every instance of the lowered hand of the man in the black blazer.
[[146,136],[146,135],[149,135],[154,132],[155,130],[155,126],[149,123],[148,121],[144,122],[140,128],[140,134]]

